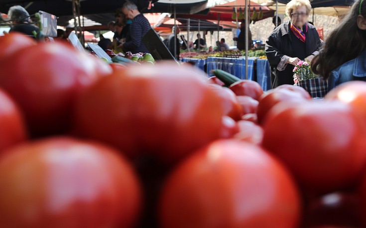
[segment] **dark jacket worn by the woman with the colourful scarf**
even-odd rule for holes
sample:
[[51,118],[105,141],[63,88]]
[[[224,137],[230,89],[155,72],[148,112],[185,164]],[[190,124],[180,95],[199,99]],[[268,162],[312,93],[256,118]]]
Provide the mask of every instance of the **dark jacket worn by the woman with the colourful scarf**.
[[[283,23],[275,28],[265,43],[265,54],[271,67],[272,88],[282,84],[294,84],[292,73],[292,70],[294,69],[293,65],[287,64],[283,71],[277,69],[283,56],[291,58],[298,57],[296,56],[297,50],[296,45],[294,44],[297,42],[292,41],[292,39],[297,38],[290,34],[292,31],[289,28],[289,24],[290,22]],[[316,54],[321,46],[321,40],[318,31],[312,24],[308,24],[308,31],[305,34],[305,52],[306,57],[308,57],[312,54]]]

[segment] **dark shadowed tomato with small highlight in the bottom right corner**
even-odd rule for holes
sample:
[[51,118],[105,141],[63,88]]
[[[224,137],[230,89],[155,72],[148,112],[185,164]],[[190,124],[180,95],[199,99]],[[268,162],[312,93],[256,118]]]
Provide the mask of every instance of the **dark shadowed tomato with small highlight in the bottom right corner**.
[[360,199],[356,194],[332,193],[311,200],[303,219],[305,227],[324,225],[361,227]]

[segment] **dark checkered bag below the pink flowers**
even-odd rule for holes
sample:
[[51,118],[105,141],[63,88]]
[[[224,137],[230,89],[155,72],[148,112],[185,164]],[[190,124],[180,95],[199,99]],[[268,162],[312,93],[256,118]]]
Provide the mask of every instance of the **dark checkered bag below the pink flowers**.
[[328,92],[328,81],[321,77],[298,81],[295,85],[303,87],[313,98],[324,97]]

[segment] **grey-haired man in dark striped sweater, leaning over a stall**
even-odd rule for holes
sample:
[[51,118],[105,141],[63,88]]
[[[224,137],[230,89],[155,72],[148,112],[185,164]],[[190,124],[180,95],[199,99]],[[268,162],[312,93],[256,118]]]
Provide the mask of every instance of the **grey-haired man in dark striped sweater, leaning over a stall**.
[[151,28],[149,21],[138,11],[137,6],[133,2],[126,1],[123,4],[122,12],[127,19],[132,20],[132,24],[129,25],[127,40],[121,47],[125,51],[130,51],[132,53],[147,53],[148,50],[142,43],[142,37]]

